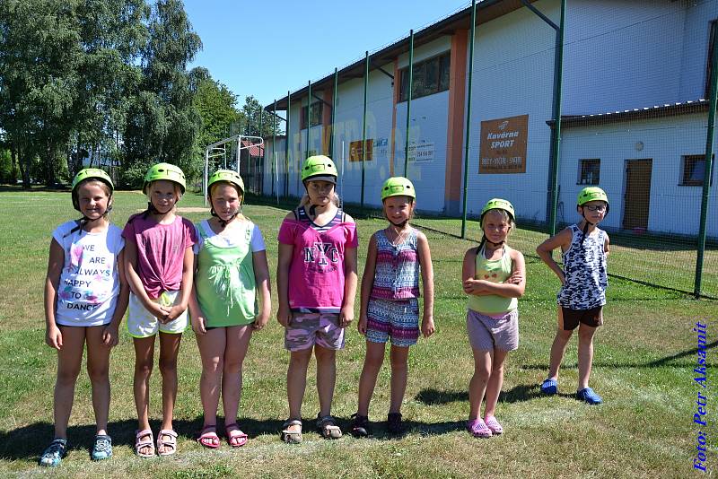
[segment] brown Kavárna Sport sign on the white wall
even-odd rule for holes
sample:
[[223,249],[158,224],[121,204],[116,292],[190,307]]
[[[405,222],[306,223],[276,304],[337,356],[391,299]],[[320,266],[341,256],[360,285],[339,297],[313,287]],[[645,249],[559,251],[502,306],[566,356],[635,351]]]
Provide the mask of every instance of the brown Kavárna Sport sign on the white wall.
[[481,122],[479,173],[525,173],[529,115]]

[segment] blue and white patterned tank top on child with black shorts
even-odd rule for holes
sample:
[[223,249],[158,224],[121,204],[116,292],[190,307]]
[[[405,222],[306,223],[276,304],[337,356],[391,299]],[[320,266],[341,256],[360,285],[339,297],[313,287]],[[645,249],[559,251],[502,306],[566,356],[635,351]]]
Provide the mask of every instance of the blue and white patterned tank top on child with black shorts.
[[564,258],[565,284],[558,291],[558,304],[569,309],[591,309],[606,304],[609,276],[606,269],[606,231],[598,228],[583,239],[578,225],[572,224],[571,247]]

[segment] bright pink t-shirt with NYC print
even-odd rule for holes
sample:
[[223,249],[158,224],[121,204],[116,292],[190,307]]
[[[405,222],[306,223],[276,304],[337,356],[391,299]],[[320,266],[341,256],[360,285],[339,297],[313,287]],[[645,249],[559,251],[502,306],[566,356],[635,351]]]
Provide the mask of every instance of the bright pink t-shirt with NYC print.
[[[341,217],[339,211],[337,219]],[[289,307],[300,312],[338,313],[344,303],[345,250],[359,244],[356,225],[336,221],[326,231],[313,226],[304,218],[285,219],[279,229],[279,242],[294,247]]]

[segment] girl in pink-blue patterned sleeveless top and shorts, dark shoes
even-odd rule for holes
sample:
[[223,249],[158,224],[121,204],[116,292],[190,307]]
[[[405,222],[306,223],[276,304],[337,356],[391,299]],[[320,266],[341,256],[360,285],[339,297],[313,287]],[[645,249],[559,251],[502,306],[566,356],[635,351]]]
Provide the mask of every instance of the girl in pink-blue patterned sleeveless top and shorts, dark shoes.
[[359,333],[366,336],[366,356],[359,379],[359,407],[352,433],[369,435],[369,402],[391,338],[391,401],[388,428],[401,432],[401,403],[407,388],[409,346],[419,336],[419,271],[424,285],[421,333],[433,334],[433,268],[429,242],[409,226],[415,208],[414,185],[406,178],[387,179],[381,187],[389,226],[372,235],[362,278]]

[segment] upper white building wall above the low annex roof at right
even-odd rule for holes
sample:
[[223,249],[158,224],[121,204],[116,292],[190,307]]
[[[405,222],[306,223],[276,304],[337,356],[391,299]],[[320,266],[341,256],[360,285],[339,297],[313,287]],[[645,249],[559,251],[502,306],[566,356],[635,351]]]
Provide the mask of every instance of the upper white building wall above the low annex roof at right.
[[[713,0],[709,0],[714,3]],[[705,50],[694,28],[693,2],[671,0],[574,0],[566,8],[564,115],[585,115],[697,100],[703,76],[697,57]],[[687,22],[687,13],[693,20]],[[705,26],[702,27],[702,30]],[[684,39],[690,38],[690,47]],[[703,54],[705,56],[705,54]],[[686,97],[685,95],[689,95]]]

